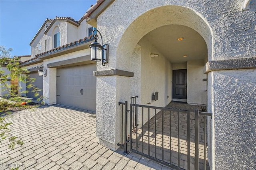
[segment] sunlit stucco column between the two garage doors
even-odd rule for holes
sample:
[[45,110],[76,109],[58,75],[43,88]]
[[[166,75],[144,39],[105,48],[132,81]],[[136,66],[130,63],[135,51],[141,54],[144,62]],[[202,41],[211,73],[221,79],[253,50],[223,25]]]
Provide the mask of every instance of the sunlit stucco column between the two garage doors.
[[[44,64],[47,65],[47,64]],[[46,97],[45,103],[48,105],[56,104],[56,68],[47,68],[47,75],[43,77],[43,95]]]

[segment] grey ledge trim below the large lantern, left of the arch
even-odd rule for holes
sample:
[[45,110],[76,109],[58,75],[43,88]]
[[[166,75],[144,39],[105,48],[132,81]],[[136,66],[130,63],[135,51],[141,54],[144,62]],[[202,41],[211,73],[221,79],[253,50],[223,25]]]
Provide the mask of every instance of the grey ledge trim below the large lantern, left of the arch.
[[94,71],[93,76],[126,76],[126,77],[133,77],[134,73],[124,70],[118,69],[111,69],[111,70],[101,70],[101,71]]

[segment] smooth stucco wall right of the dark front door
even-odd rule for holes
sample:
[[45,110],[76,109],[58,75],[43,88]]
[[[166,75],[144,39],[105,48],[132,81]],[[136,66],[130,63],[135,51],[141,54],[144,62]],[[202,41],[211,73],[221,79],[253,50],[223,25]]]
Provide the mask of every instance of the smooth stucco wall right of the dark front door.
[[187,103],[206,105],[206,78],[204,74],[204,60],[193,60],[187,62]]

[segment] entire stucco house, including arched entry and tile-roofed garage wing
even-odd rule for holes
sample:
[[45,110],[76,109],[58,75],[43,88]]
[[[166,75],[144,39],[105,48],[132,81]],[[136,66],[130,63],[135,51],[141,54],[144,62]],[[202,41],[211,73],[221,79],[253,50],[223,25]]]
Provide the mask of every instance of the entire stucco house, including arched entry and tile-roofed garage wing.
[[[256,2],[243,3],[97,0],[79,21],[46,19],[30,43],[32,58],[21,65],[35,78],[38,66],[46,69],[46,76],[36,82],[46,104],[96,111],[97,136],[112,150],[122,140],[119,102],[131,96],[138,96],[137,104],[143,106],[180,101],[207,106],[212,113],[208,118],[212,170],[252,169],[256,167]],[[94,27],[109,45],[105,66],[90,60]],[[155,92],[158,100],[152,100]]]

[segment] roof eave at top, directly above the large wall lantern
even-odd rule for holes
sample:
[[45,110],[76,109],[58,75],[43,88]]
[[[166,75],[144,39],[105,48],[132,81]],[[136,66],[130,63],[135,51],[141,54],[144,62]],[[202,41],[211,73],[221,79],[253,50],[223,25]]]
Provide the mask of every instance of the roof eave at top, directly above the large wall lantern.
[[97,0],[97,3],[84,14],[84,19],[88,24],[97,27],[97,17],[113,2],[114,0]]

